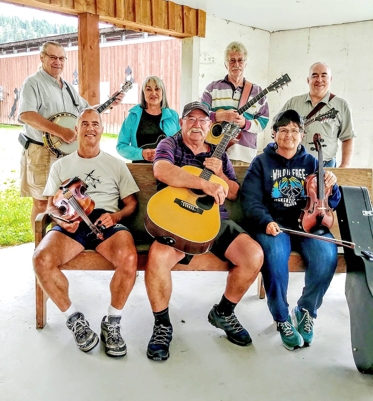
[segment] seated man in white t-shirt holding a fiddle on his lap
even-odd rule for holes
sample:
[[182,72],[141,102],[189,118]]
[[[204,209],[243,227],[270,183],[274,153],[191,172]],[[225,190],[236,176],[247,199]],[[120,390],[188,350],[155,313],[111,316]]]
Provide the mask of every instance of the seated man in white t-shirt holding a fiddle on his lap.
[[[59,266],[84,249],[96,249],[115,266],[110,282],[111,303],[101,322],[101,339],[108,356],[123,356],[127,348],[120,332],[120,319],[135,282],[137,252],[132,235],[120,221],[135,211],[134,193],[139,189],[126,164],[100,150],[102,130],[102,120],[95,109],[85,109],[78,115],[75,131],[79,148],[54,162],[43,196],[48,196],[48,213],[69,219],[72,215],[64,215],[53,205],[53,196],[62,182],[80,178],[86,183],[86,194],[95,203],[88,218],[102,229],[104,239],[97,239],[94,234],[87,237],[92,230],[84,222],[69,224],[56,219],[58,226],[50,230],[35,249],[33,262],[40,285],[66,316],[66,326],[84,352],[98,344],[98,336],[70,301],[68,280]],[[124,204],[120,210],[119,200]]]

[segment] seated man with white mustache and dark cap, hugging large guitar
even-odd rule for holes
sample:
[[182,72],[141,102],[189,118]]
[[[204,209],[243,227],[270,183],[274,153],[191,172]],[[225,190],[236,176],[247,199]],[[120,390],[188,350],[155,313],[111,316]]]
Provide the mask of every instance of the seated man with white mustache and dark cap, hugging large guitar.
[[[211,309],[208,320],[213,326],[223,329],[231,342],[246,346],[251,344],[251,338],[237,320],[234,308],[257,277],[263,263],[263,251],[241,227],[229,220],[224,208],[225,198],[232,201],[237,198],[239,183],[227,154],[224,152],[221,159],[212,157],[217,145],[205,142],[211,126],[207,105],[199,101],[185,105],[180,126],[181,136],[168,137],[157,146],[153,164],[157,189],[168,185],[199,189],[213,196],[220,205],[221,228],[211,252],[223,261],[229,260],[232,267],[223,297]],[[229,189],[190,174],[181,168],[186,165],[208,168],[227,182]],[[146,352],[150,359],[166,360],[170,355],[170,271],[176,263],[188,264],[192,257],[158,241],[150,247],[145,271],[146,291],[155,320]]]

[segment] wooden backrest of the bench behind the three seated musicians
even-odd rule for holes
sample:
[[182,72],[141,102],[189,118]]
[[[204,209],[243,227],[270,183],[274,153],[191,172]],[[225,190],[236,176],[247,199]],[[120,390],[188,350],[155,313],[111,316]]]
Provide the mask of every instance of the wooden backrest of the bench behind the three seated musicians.
[[[149,240],[149,235],[144,227],[144,217],[146,204],[149,198],[156,192],[156,183],[153,176],[151,164],[127,164],[130,172],[136,181],[140,192],[136,194],[138,200],[138,212],[128,222],[132,235],[136,242]],[[245,178],[247,167],[235,166],[235,173],[242,184]],[[337,177],[338,185],[366,186],[372,199],[372,169],[371,168],[328,168]],[[244,217],[241,210],[239,199],[235,202],[225,201],[225,207],[229,212],[229,217],[237,224],[243,225]],[[335,216],[332,233],[335,238],[340,239],[337,217]]]

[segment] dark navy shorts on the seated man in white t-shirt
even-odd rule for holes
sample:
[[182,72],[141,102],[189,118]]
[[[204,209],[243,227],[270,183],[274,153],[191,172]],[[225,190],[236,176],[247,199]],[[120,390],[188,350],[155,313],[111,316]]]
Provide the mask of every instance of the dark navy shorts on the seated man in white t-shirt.
[[[88,218],[90,219],[90,221],[92,221],[92,223],[95,223],[96,220],[104,213],[110,213],[110,212],[104,209],[93,209],[93,211],[88,215]],[[52,230],[60,231],[60,233],[67,235],[74,241],[77,241],[78,243],[83,245],[84,249],[96,249],[96,247],[100,245],[100,243],[102,243],[102,241],[98,239],[94,233],[92,233],[92,230],[88,227],[88,225],[86,225],[86,223],[84,223],[84,221],[80,222],[79,227],[75,231],[75,233],[69,233],[60,226],[55,226],[52,228]],[[104,236],[104,239],[108,239],[118,231],[123,231],[123,230],[129,231],[127,227],[125,227],[120,223],[117,223],[107,229],[104,229],[102,231],[102,235]]]

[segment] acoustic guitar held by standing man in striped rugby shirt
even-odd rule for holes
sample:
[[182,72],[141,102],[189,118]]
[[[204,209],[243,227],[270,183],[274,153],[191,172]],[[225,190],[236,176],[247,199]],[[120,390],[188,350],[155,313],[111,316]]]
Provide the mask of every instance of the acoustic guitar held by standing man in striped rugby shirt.
[[[259,100],[263,99],[265,95],[269,92],[277,91],[281,87],[287,85],[289,82],[291,82],[291,79],[289,78],[289,75],[285,74],[282,75],[279,79],[276,79],[276,81],[272,82],[271,85],[269,85],[267,88],[263,89],[263,91],[259,92],[253,99],[249,100],[247,103],[245,103],[242,107],[237,109],[237,113],[239,115],[245,113],[246,110],[248,110],[250,107],[255,105]],[[219,109],[217,111],[224,111],[224,109]],[[206,137],[206,142],[210,142],[211,144],[218,144],[222,138],[222,131],[225,126],[229,124],[226,121],[221,121],[219,123],[214,123],[210,127],[209,133],[207,134]],[[239,132],[239,135],[235,139],[235,141],[239,141],[241,138],[241,132]],[[229,146],[233,145],[233,142],[229,144]],[[229,147],[227,144],[227,147]]]

